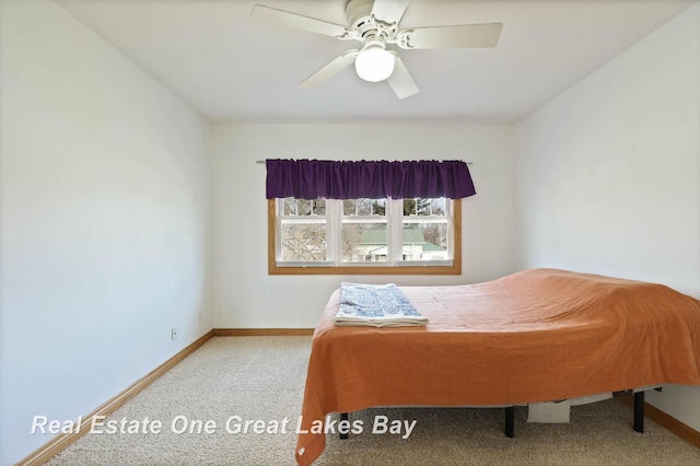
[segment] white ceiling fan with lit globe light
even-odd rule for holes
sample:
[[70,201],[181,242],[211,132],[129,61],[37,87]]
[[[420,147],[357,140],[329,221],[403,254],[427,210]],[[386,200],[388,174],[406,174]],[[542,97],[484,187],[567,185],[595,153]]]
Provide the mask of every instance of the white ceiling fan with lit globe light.
[[354,62],[360,78],[372,82],[386,80],[398,98],[409,97],[419,90],[399,55],[387,50],[388,44],[396,44],[402,49],[488,48],[499,42],[502,23],[401,30],[399,22],[408,3],[409,0],[348,0],[348,26],[261,4],[253,7],[250,15],[256,20],[362,44],[360,48],[334,58],[302,81],[300,88],[320,84]]

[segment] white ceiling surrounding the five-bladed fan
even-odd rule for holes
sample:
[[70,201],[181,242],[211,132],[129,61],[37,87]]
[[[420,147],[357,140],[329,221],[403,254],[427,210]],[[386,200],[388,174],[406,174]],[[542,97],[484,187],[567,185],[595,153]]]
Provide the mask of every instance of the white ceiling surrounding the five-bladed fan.
[[420,93],[353,67],[296,85],[358,43],[250,19],[261,3],[347,24],[347,0],[57,0],[212,121],[515,123],[695,0],[412,0],[401,28],[503,23],[492,49],[397,49]]

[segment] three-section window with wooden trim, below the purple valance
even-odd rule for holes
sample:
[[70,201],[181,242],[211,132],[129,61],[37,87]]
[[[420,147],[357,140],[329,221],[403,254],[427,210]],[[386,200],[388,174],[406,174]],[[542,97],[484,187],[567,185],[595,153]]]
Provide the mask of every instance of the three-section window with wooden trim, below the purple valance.
[[459,275],[462,202],[268,200],[270,275]]

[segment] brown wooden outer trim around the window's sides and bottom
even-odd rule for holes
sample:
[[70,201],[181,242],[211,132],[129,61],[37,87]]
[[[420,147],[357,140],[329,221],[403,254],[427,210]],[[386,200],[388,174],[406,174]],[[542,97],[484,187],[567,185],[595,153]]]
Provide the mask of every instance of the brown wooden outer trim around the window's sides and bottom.
[[452,200],[452,265],[410,261],[395,266],[278,266],[276,199],[267,200],[268,275],[462,275],[462,199]]

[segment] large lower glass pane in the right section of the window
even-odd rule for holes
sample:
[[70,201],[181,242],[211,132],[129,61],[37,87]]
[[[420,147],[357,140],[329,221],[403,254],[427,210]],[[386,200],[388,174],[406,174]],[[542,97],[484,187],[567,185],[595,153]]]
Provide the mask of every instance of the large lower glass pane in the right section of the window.
[[446,222],[404,223],[402,260],[446,260],[448,228]]

